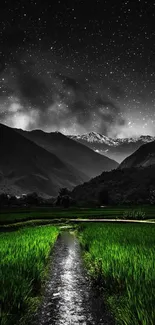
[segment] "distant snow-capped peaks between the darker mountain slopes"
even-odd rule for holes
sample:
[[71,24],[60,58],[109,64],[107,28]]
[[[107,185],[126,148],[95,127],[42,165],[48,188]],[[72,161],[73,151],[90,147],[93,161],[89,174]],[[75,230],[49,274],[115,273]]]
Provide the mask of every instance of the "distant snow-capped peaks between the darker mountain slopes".
[[76,140],[96,152],[118,161],[119,163],[135,152],[143,144],[155,140],[155,137],[150,135],[113,139],[96,132],[90,132],[83,135],[70,135],[69,138]]

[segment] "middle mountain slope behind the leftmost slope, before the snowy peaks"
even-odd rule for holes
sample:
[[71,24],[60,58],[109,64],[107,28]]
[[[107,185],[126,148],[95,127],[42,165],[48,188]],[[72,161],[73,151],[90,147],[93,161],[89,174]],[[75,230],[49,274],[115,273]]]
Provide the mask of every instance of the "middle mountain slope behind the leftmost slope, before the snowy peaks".
[[117,168],[118,163],[94,152],[77,141],[69,139],[59,132],[46,133],[41,130],[31,132],[16,130],[42,148],[55,154],[67,164],[85,175],[85,180],[99,175],[104,170]]

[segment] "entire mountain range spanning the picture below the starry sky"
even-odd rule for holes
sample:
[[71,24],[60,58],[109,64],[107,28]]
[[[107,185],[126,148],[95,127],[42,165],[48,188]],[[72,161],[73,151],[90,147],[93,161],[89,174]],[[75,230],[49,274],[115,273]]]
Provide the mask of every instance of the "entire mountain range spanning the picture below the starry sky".
[[[128,151],[134,145],[143,145],[119,165],[81,143],[81,138],[87,144],[118,149],[118,155],[123,145]],[[80,201],[93,202],[105,189],[115,203],[123,202],[124,196],[125,200],[132,195],[134,200],[139,199],[140,191],[145,197],[155,189],[155,141],[150,142],[153,139],[141,136],[115,140],[92,132],[80,136],[79,141],[78,136],[60,132],[24,131],[0,124],[0,192],[20,195],[35,191],[51,197],[67,187],[74,188],[73,197]]]

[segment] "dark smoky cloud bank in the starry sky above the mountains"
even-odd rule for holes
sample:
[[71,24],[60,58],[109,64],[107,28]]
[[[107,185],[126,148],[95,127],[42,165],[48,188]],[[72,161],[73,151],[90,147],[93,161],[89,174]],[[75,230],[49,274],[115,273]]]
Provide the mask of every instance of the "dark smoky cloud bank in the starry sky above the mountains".
[[20,127],[21,120],[21,126],[27,129],[40,127],[72,133],[95,130],[107,135],[113,126],[125,124],[118,104],[109,97],[110,92],[120,93],[117,85],[108,84],[108,90],[93,79],[88,82],[52,69],[41,73],[35,58],[19,60],[5,70],[4,76],[7,85],[5,104],[1,98],[1,119],[13,121],[12,126],[18,126],[18,121]]

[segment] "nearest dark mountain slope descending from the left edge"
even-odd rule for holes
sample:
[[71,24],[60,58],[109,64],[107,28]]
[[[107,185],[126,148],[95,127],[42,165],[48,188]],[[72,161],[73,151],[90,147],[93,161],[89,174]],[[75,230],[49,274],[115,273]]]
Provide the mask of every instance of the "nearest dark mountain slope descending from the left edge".
[[72,166],[26,139],[14,129],[0,124],[0,189],[56,195],[60,187],[83,181]]

